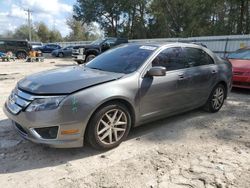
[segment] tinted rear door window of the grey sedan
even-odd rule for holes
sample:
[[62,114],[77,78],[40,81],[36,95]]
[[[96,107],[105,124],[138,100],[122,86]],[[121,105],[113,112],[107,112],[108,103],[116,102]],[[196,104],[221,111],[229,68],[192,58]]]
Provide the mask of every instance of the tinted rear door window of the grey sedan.
[[214,60],[204,50],[198,48],[184,48],[188,67],[214,64]]

